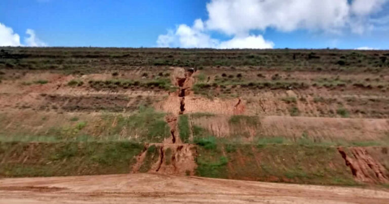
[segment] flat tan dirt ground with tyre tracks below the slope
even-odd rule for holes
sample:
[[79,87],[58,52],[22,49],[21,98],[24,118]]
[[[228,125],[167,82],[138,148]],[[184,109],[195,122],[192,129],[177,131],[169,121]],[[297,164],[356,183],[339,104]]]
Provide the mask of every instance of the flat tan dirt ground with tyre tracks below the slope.
[[389,203],[384,189],[122,174],[0,180],[0,203]]

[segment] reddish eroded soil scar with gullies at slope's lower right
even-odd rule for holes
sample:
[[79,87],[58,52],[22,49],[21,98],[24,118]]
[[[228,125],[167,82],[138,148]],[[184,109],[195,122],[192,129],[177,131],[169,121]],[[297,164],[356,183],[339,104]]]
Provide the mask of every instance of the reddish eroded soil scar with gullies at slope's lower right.
[[363,147],[350,147],[348,150],[352,156],[348,156],[342,147],[338,152],[350,168],[351,173],[357,181],[366,183],[388,183],[388,172],[385,167]]

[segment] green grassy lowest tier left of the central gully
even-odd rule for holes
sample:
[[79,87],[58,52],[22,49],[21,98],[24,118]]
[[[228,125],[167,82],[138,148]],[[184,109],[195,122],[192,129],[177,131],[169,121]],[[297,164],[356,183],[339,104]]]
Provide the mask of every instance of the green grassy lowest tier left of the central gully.
[[142,144],[0,142],[0,177],[126,174]]

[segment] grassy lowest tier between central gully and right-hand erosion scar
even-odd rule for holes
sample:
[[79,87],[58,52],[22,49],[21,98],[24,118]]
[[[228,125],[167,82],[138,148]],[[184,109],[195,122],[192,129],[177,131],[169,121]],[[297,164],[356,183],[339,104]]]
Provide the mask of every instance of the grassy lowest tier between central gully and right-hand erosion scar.
[[[344,160],[335,147],[284,145],[280,144],[282,140],[279,138],[269,140],[276,144],[260,145],[258,148],[243,144],[232,147],[230,144],[219,144],[216,149],[199,147],[197,174],[213,178],[257,181],[273,178],[271,181],[361,185],[344,166]],[[226,150],[225,153],[223,149]],[[329,163],[331,167],[323,166]]]

